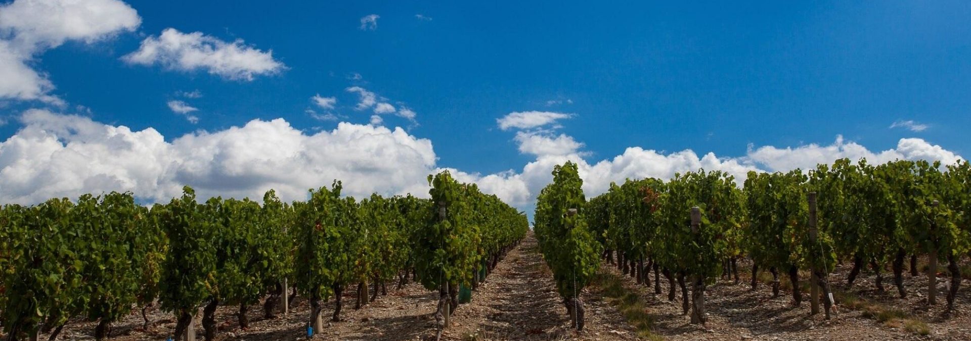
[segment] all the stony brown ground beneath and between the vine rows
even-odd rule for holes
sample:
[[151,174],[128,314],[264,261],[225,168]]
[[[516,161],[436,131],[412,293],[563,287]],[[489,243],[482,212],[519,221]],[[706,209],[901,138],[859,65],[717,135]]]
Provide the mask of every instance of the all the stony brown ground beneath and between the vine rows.
[[[790,292],[773,297],[769,285],[761,284],[755,291],[747,284],[751,277],[740,263],[742,284],[720,280],[708,288],[709,323],[704,326],[687,324],[682,315],[681,294],[674,301],[667,300],[667,282],[661,277],[663,294],[653,294],[653,286],[635,283],[623,276],[616,267],[604,265],[602,271],[620,278],[627,292],[642,297],[646,313],[652,320],[654,338],[665,340],[971,340],[971,281],[965,280],[957,298],[957,310],[945,316],[944,278],[939,280],[937,306],[926,305],[924,276],[906,276],[910,297],[899,299],[892,287],[892,275],[885,273],[886,293],[876,291],[872,273],[864,272],[854,286],[845,285],[839,268],[831,277],[834,288],[842,294],[865,297],[868,301],[902,312],[906,319],[920,321],[928,333],[920,335],[908,330],[901,322],[880,322],[866,309],[837,304],[833,318],[824,321],[821,314],[809,315],[808,294],[801,306],[792,305]],[[764,280],[764,279],[763,279]],[[784,278],[785,280],[785,278]],[[586,302],[586,329],[572,331],[560,298],[554,291],[552,274],[539,255],[536,240],[527,238],[498,264],[486,282],[475,292],[472,302],[462,304],[452,315],[452,326],[442,335],[443,340],[635,340],[636,330],[608,302],[601,288],[592,286],[582,297]],[[345,296],[343,321],[325,323],[316,339],[321,340],[435,340],[436,329],[432,314],[437,293],[424,290],[418,284],[400,290],[388,287],[388,294],[376,301],[353,309],[353,293]],[[329,318],[333,302],[324,307]],[[250,310],[250,328],[241,330],[236,320],[237,307],[221,307],[217,313],[218,340],[301,340],[306,339],[309,307],[299,297],[286,315],[276,319],[262,318],[262,309]],[[115,325],[112,339],[165,340],[170,337],[175,322],[169,314],[149,309],[149,328],[142,328],[140,312],[133,312]],[[93,323],[76,321],[62,332],[61,339],[92,340]],[[199,328],[199,339],[202,329]],[[46,339],[47,335],[41,335]]]

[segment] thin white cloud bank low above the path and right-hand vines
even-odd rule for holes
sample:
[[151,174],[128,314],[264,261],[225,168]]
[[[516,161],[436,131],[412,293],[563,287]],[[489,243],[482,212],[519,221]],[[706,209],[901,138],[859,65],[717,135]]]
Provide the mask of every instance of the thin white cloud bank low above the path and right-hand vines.
[[642,147],[628,147],[613,158],[589,162],[589,154],[580,151],[582,142],[566,135],[552,136],[549,132],[519,132],[519,152],[531,154],[535,159],[521,170],[502,171],[495,174],[457,172],[456,178],[479,184],[485,193],[495,194],[520,209],[530,210],[539,191],[552,181],[552,168],[566,161],[578,164],[584,179],[584,192],[588,197],[606,192],[611,182],[623,182],[626,178],[656,177],[669,179],[677,172],[725,171],[734,175],[741,185],[748,171],[789,171],[795,168],[807,170],[820,163],[832,163],[839,158],[857,160],[865,157],[871,164],[886,163],[897,159],[941,160],[954,164],[962,160],[954,152],[940,145],[921,139],[901,139],[897,146],[873,152],[855,142],[837,138],[830,145],[810,144],[799,147],[779,148],[763,146],[749,148],[741,157],[719,157],[715,153],[698,155],[685,149],[663,153]]

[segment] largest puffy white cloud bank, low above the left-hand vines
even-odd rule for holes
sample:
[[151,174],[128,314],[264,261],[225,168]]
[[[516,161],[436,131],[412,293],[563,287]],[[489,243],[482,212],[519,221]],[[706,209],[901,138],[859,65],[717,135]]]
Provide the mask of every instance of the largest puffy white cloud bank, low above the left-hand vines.
[[28,110],[19,120],[17,134],[0,142],[2,202],[105,191],[167,202],[184,184],[200,198],[260,198],[272,188],[292,201],[305,200],[308,189],[331,179],[344,181],[355,197],[426,196],[424,178],[436,170],[431,141],[400,128],[340,123],[308,135],[282,118],[256,119],[170,142],[152,128],[132,131],[47,110]]

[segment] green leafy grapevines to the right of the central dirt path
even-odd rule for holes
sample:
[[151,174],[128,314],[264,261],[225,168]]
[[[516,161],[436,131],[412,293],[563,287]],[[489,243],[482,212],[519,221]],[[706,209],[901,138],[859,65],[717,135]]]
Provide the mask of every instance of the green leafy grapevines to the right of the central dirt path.
[[[638,283],[651,286],[653,270],[655,294],[661,293],[663,275],[669,283],[668,299],[673,300],[677,282],[684,313],[690,313],[691,323],[696,324],[705,323],[706,285],[720,276],[730,278],[732,272],[737,283],[735,264],[741,258],[753,262],[753,288],[755,275],[767,269],[778,295],[779,272],[785,272],[796,305],[802,301],[799,274],[810,273],[813,313],[818,312],[821,298],[828,318],[834,303],[828,274],[836,263],[854,263],[848,278],[851,284],[860,267],[869,264],[881,291],[880,270],[891,267],[903,297],[906,258],[910,256],[912,274],[917,275],[917,258],[926,256],[930,304],[935,304],[937,263],[947,263],[950,311],[960,285],[957,263],[971,251],[971,166],[967,162],[942,168],[924,161],[873,166],[865,160],[854,164],[843,159],[808,172],[752,171],[741,187],[721,171],[688,171],[668,181],[628,179],[611,184],[606,193],[589,202],[584,201],[575,166],[557,167],[553,175],[553,183],[539,196],[537,237],[541,242],[567,238],[554,239],[562,245],[574,237],[571,229],[593,233],[589,238],[581,236],[578,240],[584,244],[574,250],[543,250],[554,275],[591,271],[586,263],[576,262],[583,256],[570,253],[602,246],[600,256]],[[586,222],[572,219],[571,208]],[[563,256],[574,262],[564,262]]]

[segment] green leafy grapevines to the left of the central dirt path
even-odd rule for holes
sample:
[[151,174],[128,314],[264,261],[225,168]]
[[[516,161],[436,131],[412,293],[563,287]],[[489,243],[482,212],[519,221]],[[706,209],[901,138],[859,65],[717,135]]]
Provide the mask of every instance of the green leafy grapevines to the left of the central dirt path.
[[386,294],[388,282],[407,284],[410,273],[429,289],[443,281],[473,286],[483,279],[480,269],[491,269],[525,234],[526,218],[448,172],[438,178],[453,185],[448,228],[431,200],[372,195],[356,202],[341,196],[339,181],[311,190],[306,202],[281,202],[273,191],[263,202],[199,202],[185,187],[181,198],[151,208],[131,193],[5,205],[0,323],[9,340],[39,332],[52,340],[69,319],[85,318],[99,321],[100,340],[132,309],[141,307],[145,316],[157,302],[176,317],[175,339],[194,334],[189,328],[201,308],[212,340],[219,306],[238,306],[246,328],[248,310],[260,300],[273,318],[281,298],[301,294],[311,306],[313,334],[322,327],[322,302],[335,298],[332,319],[339,321],[341,297],[354,285],[357,307]]

